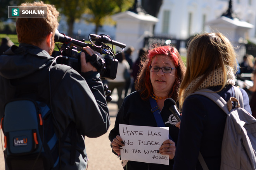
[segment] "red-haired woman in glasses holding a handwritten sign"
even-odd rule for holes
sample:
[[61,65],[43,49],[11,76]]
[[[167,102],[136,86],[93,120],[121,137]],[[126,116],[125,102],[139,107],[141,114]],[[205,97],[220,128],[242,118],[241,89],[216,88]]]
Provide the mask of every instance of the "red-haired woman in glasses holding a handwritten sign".
[[179,130],[175,126],[177,120],[168,109],[163,109],[163,106],[166,98],[178,100],[178,90],[186,68],[178,50],[173,46],[158,46],[149,50],[146,58],[142,59],[141,65],[140,73],[135,82],[137,91],[125,98],[116,116],[115,126],[109,133],[112,152],[120,155],[121,147],[125,146],[119,134],[119,124],[157,126],[151,111],[150,102],[153,99],[161,111],[164,125],[169,127],[171,139],[164,141],[159,146],[160,154],[169,155],[169,165],[128,161],[124,169],[170,170],[173,167],[175,143],[178,139]]

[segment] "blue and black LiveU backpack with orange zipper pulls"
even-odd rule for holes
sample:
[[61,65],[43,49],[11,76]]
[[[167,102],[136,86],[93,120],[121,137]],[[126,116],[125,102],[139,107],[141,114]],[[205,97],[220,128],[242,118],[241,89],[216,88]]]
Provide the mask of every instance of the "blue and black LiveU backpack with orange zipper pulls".
[[52,116],[47,104],[29,98],[17,98],[5,105],[1,127],[5,135],[5,162],[10,170],[59,168]]

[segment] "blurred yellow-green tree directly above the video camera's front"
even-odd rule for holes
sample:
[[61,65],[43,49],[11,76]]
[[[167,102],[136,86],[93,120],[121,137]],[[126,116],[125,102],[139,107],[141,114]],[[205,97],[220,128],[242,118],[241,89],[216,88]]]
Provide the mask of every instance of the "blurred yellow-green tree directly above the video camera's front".
[[86,0],[87,22],[95,24],[95,34],[99,27],[106,22],[111,22],[110,16],[128,10],[134,0]]

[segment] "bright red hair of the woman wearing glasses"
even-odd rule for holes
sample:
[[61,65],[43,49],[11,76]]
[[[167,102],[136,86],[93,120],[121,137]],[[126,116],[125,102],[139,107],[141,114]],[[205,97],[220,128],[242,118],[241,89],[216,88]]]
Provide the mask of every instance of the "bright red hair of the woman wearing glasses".
[[176,80],[173,88],[170,89],[169,97],[176,100],[178,99],[178,90],[183,76],[185,75],[185,65],[178,53],[178,50],[174,46],[155,46],[148,51],[146,59],[142,60],[142,67],[135,82],[135,88],[140,93],[143,100],[147,100],[152,93],[152,84],[150,81],[150,69],[149,66],[152,63],[152,59],[157,55],[164,55],[173,60],[175,68],[177,70]]

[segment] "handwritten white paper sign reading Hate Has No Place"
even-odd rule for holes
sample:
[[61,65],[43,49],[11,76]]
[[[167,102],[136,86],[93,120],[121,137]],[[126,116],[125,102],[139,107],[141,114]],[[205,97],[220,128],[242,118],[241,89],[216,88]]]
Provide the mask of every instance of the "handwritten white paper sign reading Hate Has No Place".
[[122,160],[169,165],[169,156],[157,153],[168,139],[169,127],[119,124],[119,132],[125,142],[121,150]]

